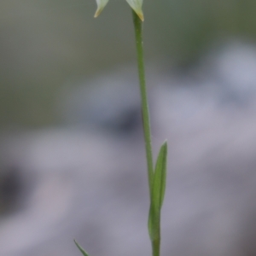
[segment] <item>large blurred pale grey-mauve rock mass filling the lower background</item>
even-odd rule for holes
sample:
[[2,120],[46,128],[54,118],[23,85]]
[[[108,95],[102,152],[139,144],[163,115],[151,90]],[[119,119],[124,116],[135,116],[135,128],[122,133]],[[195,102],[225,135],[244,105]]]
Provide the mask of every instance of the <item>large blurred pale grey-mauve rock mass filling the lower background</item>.
[[[254,255],[256,50],[231,44],[199,63],[149,79],[154,154],[169,145],[162,254]],[[1,219],[0,255],[79,256],[73,238],[92,256],[150,254],[139,97],[126,76],[75,91],[65,110],[75,127],[2,143],[29,193]]]

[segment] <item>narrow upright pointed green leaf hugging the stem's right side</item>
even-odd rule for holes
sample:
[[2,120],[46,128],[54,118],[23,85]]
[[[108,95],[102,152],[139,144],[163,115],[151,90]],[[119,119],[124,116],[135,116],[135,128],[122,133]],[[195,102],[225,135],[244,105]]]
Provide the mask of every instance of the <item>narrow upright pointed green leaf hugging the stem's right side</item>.
[[167,143],[163,143],[154,169],[153,195],[154,207],[158,211],[162,207],[166,192]]

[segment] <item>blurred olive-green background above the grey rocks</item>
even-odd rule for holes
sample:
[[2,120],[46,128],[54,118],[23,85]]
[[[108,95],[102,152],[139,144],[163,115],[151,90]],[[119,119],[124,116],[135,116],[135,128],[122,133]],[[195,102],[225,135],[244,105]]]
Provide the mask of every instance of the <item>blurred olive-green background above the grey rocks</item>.
[[[135,60],[131,10],[110,0],[98,19],[94,0],[0,2],[0,125],[38,128],[58,122],[55,99],[68,79]],[[253,0],[144,1],[147,61],[193,63],[212,42],[254,41]]]

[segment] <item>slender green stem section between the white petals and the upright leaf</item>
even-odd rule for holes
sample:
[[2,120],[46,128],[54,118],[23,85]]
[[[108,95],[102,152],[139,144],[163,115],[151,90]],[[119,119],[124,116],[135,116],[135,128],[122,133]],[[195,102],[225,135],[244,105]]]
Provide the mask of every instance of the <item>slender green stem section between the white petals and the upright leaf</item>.
[[133,23],[135,29],[136,37],[136,47],[137,47],[137,67],[141,90],[141,102],[142,102],[142,112],[143,112],[143,131],[144,140],[146,148],[146,157],[148,164],[148,186],[150,199],[152,198],[152,187],[153,187],[153,175],[154,175],[154,164],[152,156],[152,145],[151,145],[151,129],[150,129],[150,119],[149,119],[149,108],[148,108],[148,96],[147,87],[145,81],[145,71],[144,71],[144,58],[143,58],[143,22],[137,16],[137,14],[132,10]]

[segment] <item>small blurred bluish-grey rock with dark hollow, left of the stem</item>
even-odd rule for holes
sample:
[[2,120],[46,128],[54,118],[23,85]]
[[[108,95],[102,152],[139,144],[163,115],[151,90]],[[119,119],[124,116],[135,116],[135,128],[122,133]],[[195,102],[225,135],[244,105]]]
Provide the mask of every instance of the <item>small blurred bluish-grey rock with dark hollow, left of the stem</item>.
[[133,67],[92,79],[87,86],[83,81],[76,90],[67,87],[59,102],[62,119],[69,125],[121,135],[131,135],[141,125],[137,71]]

